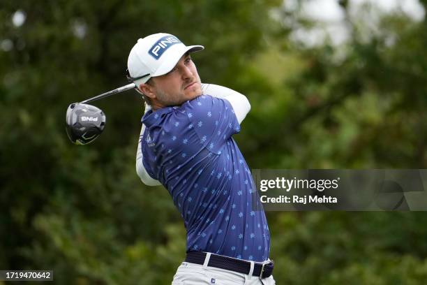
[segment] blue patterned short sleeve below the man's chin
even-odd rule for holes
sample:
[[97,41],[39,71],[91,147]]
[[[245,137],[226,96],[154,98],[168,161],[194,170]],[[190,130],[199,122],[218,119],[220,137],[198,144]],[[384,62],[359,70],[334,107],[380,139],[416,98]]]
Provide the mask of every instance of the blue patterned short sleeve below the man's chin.
[[240,131],[232,105],[221,98],[198,96],[187,102],[186,114],[202,145],[215,154],[220,154],[225,142]]

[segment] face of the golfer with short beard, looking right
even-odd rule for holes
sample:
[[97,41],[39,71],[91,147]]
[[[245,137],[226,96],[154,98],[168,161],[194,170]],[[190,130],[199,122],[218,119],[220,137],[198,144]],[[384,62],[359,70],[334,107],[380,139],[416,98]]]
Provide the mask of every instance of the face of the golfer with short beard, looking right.
[[184,54],[172,71],[152,80],[153,92],[163,106],[181,105],[202,95],[200,77],[190,54]]

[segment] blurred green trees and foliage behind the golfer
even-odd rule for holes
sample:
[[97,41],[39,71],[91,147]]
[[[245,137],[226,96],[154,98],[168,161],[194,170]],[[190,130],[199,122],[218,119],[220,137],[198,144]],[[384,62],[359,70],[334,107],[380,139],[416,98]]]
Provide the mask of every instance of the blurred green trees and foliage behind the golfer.
[[[137,38],[204,45],[202,82],[248,96],[250,168],[427,168],[426,0],[2,0],[0,269],[55,284],[170,284],[186,233],[135,173],[142,98],[97,101],[91,145],[69,103],[126,85]],[[268,212],[277,284],[426,284],[424,212]],[[25,284],[30,284],[27,282]],[[0,284],[3,284],[0,282]]]

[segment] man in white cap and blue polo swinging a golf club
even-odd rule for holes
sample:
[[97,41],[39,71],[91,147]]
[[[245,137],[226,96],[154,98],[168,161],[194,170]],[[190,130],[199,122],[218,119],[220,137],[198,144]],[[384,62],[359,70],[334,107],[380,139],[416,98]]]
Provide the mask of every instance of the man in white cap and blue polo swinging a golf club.
[[274,284],[267,220],[253,210],[255,184],[232,138],[250,104],[202,85],[190,53],[203,49],[153,34],[130,51],[128,77],[149,103],[137,173],[147,185],[163,184],[186,226],[186,262],[172,284]]

